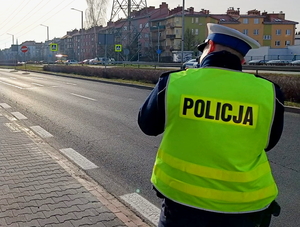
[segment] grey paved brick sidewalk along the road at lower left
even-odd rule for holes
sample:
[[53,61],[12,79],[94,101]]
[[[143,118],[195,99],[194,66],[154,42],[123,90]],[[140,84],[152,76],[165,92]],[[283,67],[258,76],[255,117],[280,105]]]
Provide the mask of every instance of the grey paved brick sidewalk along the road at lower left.
[[0,226],[149,225],[0,106]]

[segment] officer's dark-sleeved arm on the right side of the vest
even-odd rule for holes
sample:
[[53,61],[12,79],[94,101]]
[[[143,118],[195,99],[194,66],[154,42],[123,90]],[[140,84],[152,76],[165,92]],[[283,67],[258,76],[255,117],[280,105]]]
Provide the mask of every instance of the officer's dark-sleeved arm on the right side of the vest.
[[279,141],[283,130],[284,118],[284,95],[278,85],[275,84],[276,102],[275,102],[275,116],[271,128],[269,144],[265,151],[271,150]]

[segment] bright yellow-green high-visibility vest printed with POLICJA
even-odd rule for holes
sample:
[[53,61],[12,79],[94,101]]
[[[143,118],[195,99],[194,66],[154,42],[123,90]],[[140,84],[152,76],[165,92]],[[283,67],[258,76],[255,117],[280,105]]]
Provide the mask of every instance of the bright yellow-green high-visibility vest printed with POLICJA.
[[278,194],[264,151],[274,108],[273,84],[252,74],[217,68],[171,74],[151,182],[190,207],[265,209]]

